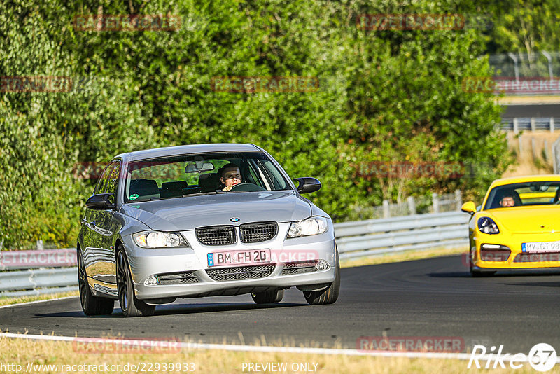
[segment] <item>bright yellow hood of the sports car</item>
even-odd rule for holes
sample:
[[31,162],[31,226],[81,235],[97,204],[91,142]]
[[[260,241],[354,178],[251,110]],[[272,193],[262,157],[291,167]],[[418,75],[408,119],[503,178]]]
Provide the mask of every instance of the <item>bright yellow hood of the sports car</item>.
[[528,207],[497,208],[487,211],[498,228],[512,233],[560,232],[560,205],[533,205]]

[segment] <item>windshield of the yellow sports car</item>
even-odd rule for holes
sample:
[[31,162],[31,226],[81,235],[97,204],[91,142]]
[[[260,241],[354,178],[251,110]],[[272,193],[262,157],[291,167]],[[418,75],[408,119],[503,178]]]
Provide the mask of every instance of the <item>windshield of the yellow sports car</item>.
[[492,188],[484,209],[559,204],[560,181],[512,183]]

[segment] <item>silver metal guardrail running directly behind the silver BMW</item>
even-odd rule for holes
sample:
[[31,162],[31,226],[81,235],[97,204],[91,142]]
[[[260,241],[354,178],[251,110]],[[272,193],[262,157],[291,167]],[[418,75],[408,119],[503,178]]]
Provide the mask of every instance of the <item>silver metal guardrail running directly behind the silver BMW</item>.
[[[342,222],[335,223],[335,236],[341,259],[458,247],[467,244],[468,219],[463,212],[445,212]],[[0,272],[0,296],[78,289],[73,248],[0,252],[0,270],[18,270]]]

